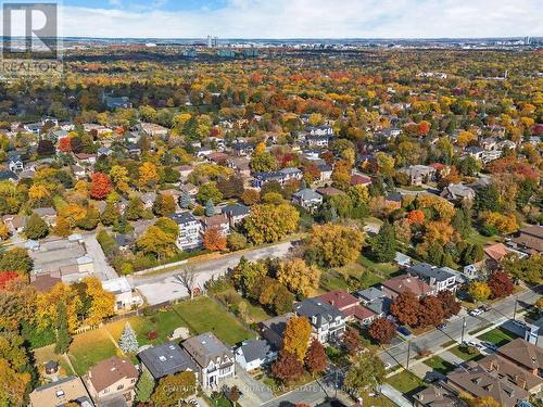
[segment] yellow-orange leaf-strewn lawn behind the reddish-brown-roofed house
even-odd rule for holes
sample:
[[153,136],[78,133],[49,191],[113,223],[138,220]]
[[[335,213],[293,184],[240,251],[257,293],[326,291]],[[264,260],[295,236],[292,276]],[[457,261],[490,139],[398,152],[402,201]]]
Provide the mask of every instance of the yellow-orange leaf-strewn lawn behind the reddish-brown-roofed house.
[[85,374],[101,360],[116,355],[116,347],[104,329],[88,331],[74,336],[68,356],[75,372]]

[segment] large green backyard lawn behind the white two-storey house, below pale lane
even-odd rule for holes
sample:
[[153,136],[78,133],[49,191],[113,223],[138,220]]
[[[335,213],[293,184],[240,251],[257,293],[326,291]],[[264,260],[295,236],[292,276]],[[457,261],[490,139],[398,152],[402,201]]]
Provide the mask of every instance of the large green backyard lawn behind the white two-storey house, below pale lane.
[[201,296],[174,306],[175,311],[197,334],[213,332],[229,345],[235,345],[254,334],[213,300]]

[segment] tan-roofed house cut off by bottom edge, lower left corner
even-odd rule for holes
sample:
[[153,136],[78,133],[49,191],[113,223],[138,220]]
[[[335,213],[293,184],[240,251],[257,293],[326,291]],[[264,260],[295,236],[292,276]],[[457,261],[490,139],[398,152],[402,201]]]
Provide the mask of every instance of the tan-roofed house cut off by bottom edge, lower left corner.
[[30,393],[30,407],[62,407],[75,402],[81,407],[93,407],[87,389],[78,377],[62,378],[35,389]]

